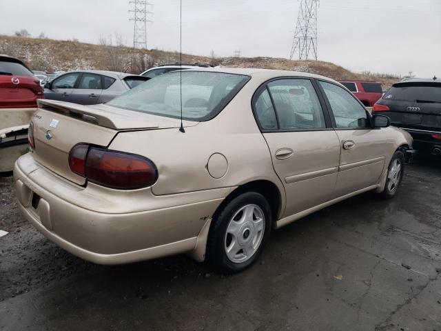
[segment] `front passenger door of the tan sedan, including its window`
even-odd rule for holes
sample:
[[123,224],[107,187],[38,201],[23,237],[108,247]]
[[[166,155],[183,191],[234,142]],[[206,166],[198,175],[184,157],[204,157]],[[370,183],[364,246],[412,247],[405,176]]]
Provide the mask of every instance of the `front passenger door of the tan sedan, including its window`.
[[328,81],[319,85],[341,148],[334,198],[375,185],[393,142],[371,128],[369,113],[351,93]]

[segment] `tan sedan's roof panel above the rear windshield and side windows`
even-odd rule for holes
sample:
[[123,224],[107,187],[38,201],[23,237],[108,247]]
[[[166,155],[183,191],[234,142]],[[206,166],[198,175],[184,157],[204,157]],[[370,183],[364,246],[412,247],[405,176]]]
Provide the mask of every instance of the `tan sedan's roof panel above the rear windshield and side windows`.
[[264,81],[276,77],[305,77],[322,79],[325,81],[332,81],[338,83],[334,79],[330,79],[319,74],[310,74],[309,72],[289,71],[289,70],[274,70],[274,69],[260,69],[260,68],[192,68],[186,71],[207,71],[207,72],[223,72],[227,74],[245,74],[253,78],[263,79]]

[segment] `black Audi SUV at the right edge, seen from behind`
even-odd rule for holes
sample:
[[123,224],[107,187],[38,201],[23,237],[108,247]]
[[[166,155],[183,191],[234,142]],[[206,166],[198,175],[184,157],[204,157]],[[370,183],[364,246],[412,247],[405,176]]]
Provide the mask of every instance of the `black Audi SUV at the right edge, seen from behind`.
[[441,154],[441,79],[406,79],[373,106],[393,126],[407,130],[417,150]]

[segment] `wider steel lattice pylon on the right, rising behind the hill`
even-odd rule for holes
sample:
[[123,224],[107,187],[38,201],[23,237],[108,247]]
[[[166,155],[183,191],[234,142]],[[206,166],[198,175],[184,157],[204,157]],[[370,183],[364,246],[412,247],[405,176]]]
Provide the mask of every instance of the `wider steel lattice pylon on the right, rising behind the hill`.
[[317,9],[319,0],[300,0],[296,30],[289,59],[298,54],[298,59],[307,60],[309,52],[317,59]]

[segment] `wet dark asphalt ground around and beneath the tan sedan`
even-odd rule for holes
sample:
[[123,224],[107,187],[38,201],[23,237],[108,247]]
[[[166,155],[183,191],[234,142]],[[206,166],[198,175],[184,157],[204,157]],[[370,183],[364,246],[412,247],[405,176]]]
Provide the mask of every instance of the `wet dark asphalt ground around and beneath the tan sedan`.
[[[185,255],[94,265],[19,216],[0,178],[0,330],[440,330],[441,160],[274,231],[234,276]],[[1,223],[0,223],[1,225]],[[5,227],[6,225],[3,225]]]

